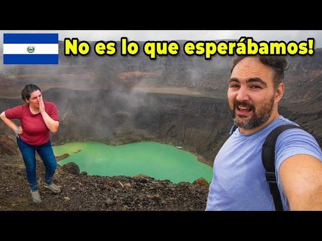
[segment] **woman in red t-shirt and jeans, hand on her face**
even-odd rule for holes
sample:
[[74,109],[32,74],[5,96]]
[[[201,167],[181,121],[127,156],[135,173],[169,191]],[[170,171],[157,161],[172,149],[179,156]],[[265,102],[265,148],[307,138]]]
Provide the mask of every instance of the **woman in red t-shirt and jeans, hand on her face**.
[[[43,101],[38,86],[26,85],[21,91],[21,97],[25,101],[24,105],[7,109],[0,114],[0,117],[16,133],[17,144],[26,166],[32,199],[40,203],[35,151],[38,152],[46,167],[44,186],[55,193],[60,193],[60,188],[52,183],[57,164],[49,140],[50,132],[55,133],[58,129],[59,118],[55,104]],[[21,127],[17,127],[11,119],[19,119]]]

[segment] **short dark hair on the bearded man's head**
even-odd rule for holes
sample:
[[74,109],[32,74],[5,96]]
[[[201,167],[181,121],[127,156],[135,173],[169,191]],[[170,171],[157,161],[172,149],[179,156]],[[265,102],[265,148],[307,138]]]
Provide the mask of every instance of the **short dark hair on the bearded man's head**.
[[274,88],[277,89],[278,85],[283,81],[284,79],[284,71],[288,69],[288,63],[285,56],[237,56],[234,58],[231,68],[230,68],[230,74],[232,73],[232,70],[238,64],[241,60],[247,58],[247,57],[255,57],[258,58],[262,64],[269,66],[274,71]]

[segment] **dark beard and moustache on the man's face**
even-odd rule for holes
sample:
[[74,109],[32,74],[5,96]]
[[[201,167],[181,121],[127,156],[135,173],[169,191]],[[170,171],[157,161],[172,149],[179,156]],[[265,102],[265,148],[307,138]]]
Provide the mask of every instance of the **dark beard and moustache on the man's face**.
[[[231,116],[233,118],[234,125],[236,125],[241,129],[246,129],[246,130],[255,129],[257,127],[262,126],[264,123],[268,121],[268,119],[272,115],[274,100],[275,98],[273,95],[268,102],[261,103],[258,107],[255,107],[254,105],[249,104],[245,101],[240,102],[235,99],[232,109],[230,108],[230,105],[229,105],[229,109],[230,109]],[[251,118],[243,120],[242,118],[243,117],[245,118],[246,115],[236,116],[235,110],[237,105],[243,105],[243,106],[247,106],[248,108],[251,108],[253,111]]]

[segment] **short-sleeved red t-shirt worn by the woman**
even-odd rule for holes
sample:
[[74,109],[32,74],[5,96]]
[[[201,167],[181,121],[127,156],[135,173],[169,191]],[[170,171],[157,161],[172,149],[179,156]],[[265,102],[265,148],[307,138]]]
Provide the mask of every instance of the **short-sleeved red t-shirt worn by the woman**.
[[[52,102],[44,101],[45,111],[54,120],[59,122],[56,105]],[[9,119],[20,119],[23,134],[19,135],[21,140],[29,145],[42,145],[49,141],[50,131],[47,128],[41,113],[33,114],[29,109],[29,104],[19,105],[7,109],[6,117]]]

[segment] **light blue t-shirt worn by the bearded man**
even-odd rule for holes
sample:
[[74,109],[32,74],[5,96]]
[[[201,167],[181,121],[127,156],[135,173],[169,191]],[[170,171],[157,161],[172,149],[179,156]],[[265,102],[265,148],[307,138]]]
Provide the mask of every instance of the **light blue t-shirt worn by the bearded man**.
[[[273,197],[262,163],[262,145],[278,126],[293,124],[279,116],[272,123],[251,135],[236,129],[218,152],[213,164],[207,210],[275,210]],[[322,161],[316,140],[301,129],[289,129],[279,135],[275,146],[276,179],[284,210],[289,210],[280,183],[278,170],[287,158],[306,154]]]

